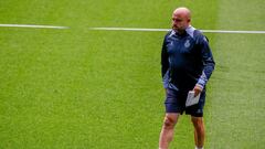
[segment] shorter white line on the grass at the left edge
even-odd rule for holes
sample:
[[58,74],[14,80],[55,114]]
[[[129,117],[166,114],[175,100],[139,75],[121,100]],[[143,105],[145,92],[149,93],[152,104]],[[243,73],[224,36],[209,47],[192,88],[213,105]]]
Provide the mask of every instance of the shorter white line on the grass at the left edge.
[[34,25],[34,24],[0,24],[6,28],[34,28],[34,29],[68,29],[68,26],[56,26],[56,25]]

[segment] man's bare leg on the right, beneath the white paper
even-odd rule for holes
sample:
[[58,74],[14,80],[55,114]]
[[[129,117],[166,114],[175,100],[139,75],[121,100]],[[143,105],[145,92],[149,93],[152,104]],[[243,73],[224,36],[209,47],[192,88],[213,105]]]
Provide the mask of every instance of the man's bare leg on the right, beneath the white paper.
[[204,145],[204,124],[202,117],[193,117],[191,116],[191,121],[194,126],[194,141],[198,148],[202,148]]

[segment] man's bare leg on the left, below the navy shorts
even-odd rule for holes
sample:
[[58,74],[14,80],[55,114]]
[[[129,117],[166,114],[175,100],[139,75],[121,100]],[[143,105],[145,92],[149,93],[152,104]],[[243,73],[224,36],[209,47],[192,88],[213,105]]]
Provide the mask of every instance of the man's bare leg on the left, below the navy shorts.
[[173,139],[173,129],[178,121],[178,118],[179,114],[177,113],[166,114],[159,139],[159,149],[168,149],[170,141]]

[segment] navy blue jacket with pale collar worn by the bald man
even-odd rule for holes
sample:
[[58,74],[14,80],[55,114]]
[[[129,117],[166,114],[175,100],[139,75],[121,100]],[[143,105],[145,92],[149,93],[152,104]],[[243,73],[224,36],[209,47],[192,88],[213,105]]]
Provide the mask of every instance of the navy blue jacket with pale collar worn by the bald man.
[[161,52],[165,88],[183,92],[195,85],[204,88],[214,65],[208,39],[193,26],[181,35],[171,30],[165,36]]

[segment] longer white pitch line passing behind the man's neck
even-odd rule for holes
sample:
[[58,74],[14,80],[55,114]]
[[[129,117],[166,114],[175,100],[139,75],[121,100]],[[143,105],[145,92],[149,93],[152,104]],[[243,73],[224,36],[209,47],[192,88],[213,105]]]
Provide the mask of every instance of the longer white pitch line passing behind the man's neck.
[[[166,32],[171,29],[141,29],[141,28],[89,28],[89,30],[103,31],[140,31],[140,32]],[[265,31],[225,31],[225,30],[201,30],[204,33],[254,33],[263,34]]]

